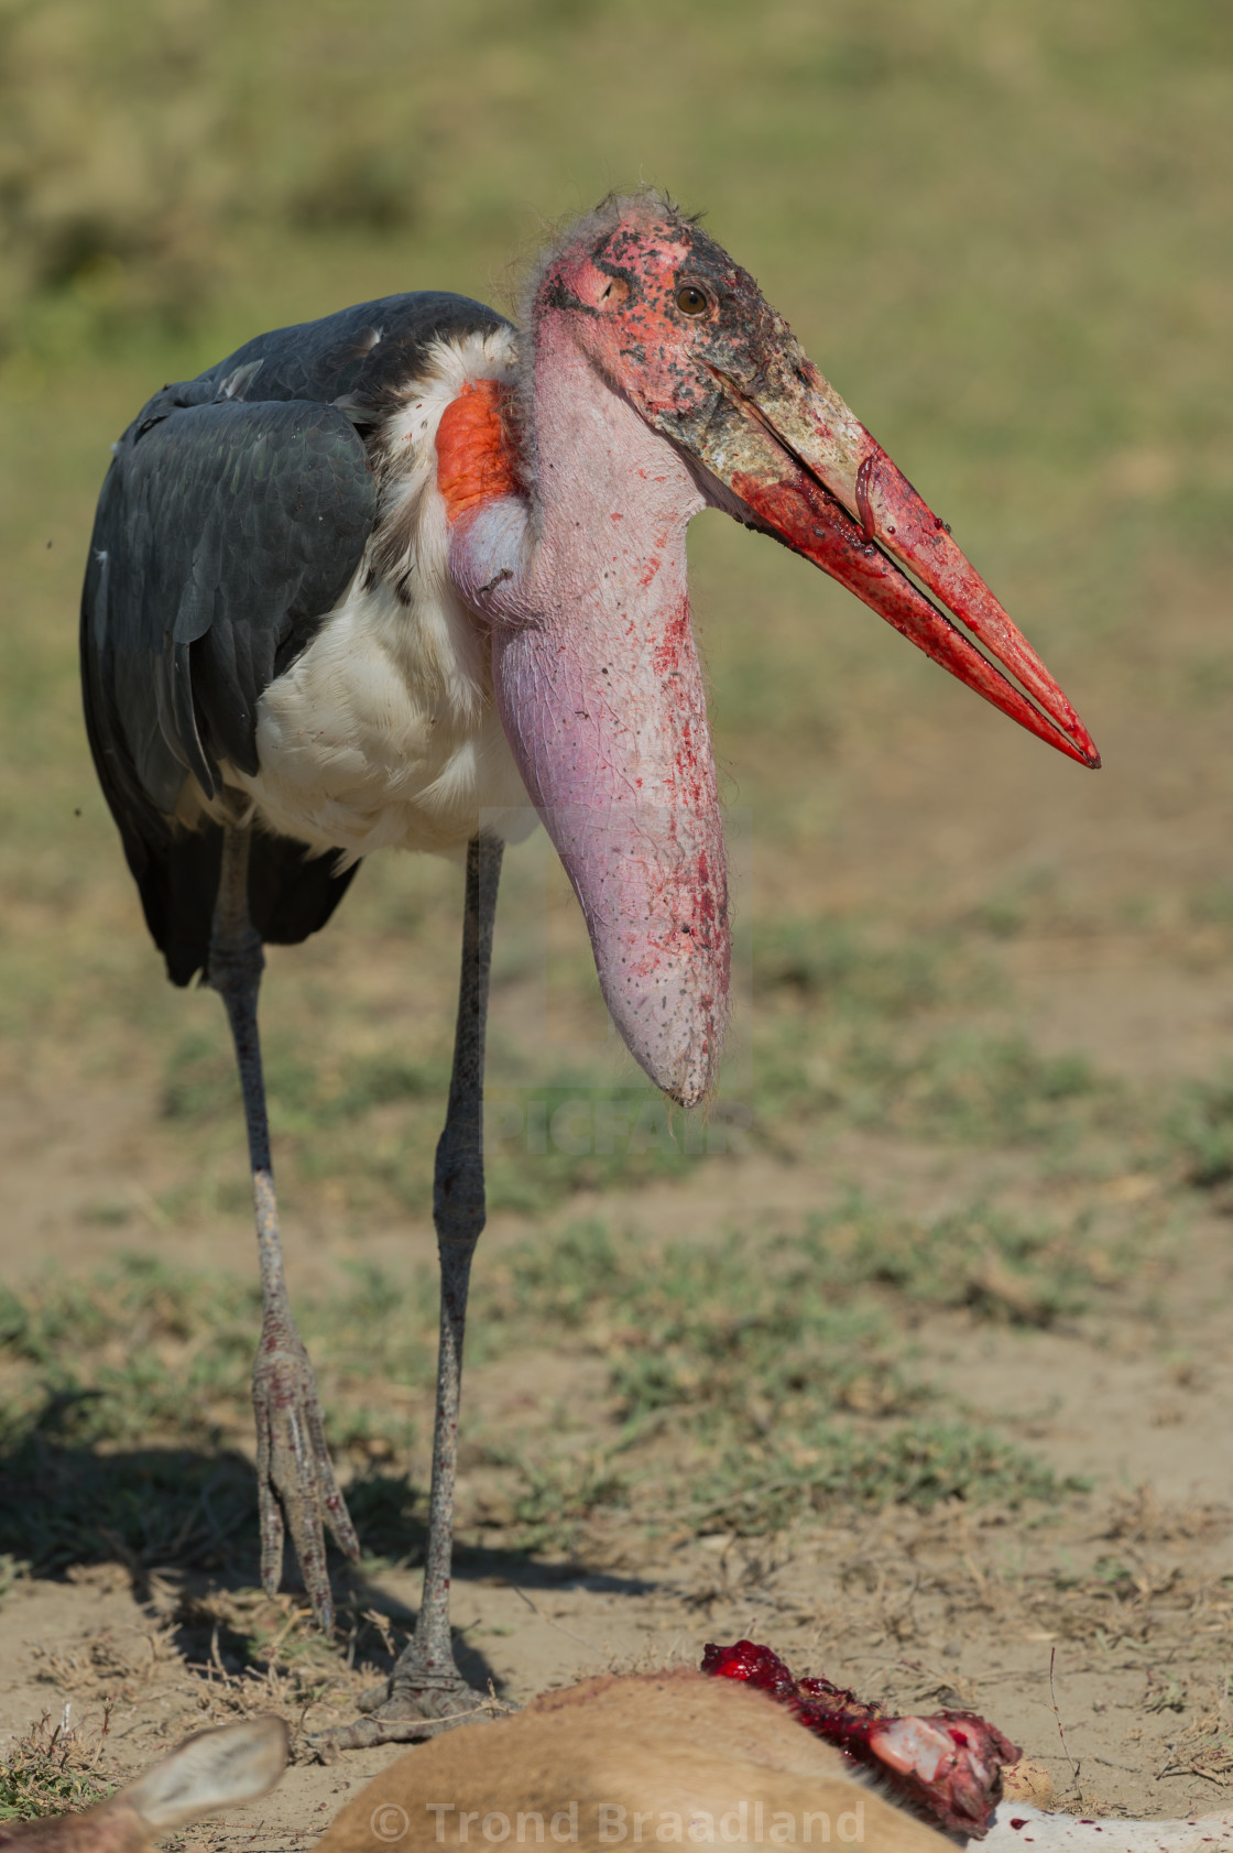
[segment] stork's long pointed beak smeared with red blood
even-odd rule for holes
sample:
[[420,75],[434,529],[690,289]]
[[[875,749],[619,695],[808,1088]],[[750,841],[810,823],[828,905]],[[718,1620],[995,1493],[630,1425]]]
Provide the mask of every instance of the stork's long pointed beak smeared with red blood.
[[946,523],[784,334],[788,350],[756,389],[708,369],[719,400],[697,454],[742,504],[721,506],[753,515],[1020,726],[1100,765],[1083,721]]

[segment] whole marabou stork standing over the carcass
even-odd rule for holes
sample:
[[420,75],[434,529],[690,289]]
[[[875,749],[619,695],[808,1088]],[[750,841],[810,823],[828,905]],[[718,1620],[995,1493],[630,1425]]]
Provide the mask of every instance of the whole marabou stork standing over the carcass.
[[686,526],[706,506],[812,560],[1022,726],[1100,763],[949,528],[755,280],[656,193],[604,200],[551,246],[521,330],[465,296],[386,296],[258,335],[163,387],[115,447],[98,502],[82,606],[89,739],[169,977],[202,973],[228,1012],[261,1264],[261,1577],[278,1586],[286,1516],[323,1627],[323,1525],[350,1557],[356,1536],[284,1286],[261,945],[324,926],[375,849],[467,858],[434,1184],[425,1590],[384,1705],[356,1727],[367,1742],[413,1733],[408,1718],[423,1729],[465,1692],[449,1573],[484,1227],[502,854],[488,815],[530,795],[645,1073],[684,1106],[716,1075],[725,852],[686,587]]

